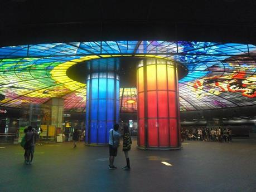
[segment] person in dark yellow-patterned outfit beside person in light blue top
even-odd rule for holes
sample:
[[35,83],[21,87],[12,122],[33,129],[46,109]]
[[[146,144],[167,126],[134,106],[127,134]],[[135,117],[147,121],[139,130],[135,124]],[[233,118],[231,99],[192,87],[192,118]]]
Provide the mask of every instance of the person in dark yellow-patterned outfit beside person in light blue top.
[[128,128],[127,125],[124,125],[123,151],[124,151],[124,155],[125,155],[127,165],[122,168],[123,170],[130,170],[131,169],[129,155],[128,155],[128,151],[131,150],[131,144],[132,144],[132,139],[131,139],[131,135],[130,135],[130,132],[129,132],[129,128]]

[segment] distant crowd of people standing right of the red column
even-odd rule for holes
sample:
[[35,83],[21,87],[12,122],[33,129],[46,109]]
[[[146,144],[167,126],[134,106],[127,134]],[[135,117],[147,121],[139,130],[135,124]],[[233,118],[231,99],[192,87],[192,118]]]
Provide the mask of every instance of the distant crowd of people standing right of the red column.
[[231,142],[232,130],[223,129],[218,127],[216,129],[211,128],[199,128],[199,129],[181,129],[181,141],[184,140],[199,140],[199,141],[219,141],[219,142]]

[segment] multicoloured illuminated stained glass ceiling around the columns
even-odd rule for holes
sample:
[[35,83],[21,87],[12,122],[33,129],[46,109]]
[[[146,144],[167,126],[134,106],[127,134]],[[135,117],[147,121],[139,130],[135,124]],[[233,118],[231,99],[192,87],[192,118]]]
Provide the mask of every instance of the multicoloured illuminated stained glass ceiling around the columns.
[[[66,71],[76,63],[109,57],[162,58],[185,66],[188,73],[179,80],[181,111],[256,105],[255,56],[255,45],[216,42],[99,41],[1,47],[0,93],[6,99],[0,105],[21,107],[59,97],[65,99],[66,110],[85,111],[86,85],[69,78]],[[136,99],[136,88],[126,88],[130,91],[125,91],[125,98]]]

